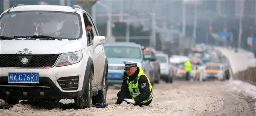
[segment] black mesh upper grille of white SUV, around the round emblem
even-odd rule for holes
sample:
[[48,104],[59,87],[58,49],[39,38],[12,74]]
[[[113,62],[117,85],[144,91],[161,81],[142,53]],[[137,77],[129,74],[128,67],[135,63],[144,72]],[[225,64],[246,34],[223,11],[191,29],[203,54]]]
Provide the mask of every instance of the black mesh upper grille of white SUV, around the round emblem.
[[[20,54],[0,54],[0,67],[15,68],[43,68],[52,67],[60,54],[51,55],[20,55]],[[28,63],[22,64],[21,59],[27,58]]]

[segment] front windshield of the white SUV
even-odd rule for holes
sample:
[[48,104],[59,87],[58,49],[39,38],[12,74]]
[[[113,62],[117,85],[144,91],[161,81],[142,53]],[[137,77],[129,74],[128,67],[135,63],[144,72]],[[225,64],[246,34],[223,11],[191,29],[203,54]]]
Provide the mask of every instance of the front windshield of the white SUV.
[[76,13],[49,11],[9,12],[1,16],[1,36],[31,35],[76,40],[82,35],[81,19]]

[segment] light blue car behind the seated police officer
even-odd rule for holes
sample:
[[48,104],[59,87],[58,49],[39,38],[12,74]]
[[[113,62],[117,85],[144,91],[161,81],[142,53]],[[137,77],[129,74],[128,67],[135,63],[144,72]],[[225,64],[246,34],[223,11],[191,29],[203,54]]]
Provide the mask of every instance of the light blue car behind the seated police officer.
[[108,58],[108,83],[121,84],[124,74],[124,60],[139,62],[143,71],[154,84],[153,67],[150,65],[151,56],[144,58],[140,44],[115,42],[104,45],[105,54]]

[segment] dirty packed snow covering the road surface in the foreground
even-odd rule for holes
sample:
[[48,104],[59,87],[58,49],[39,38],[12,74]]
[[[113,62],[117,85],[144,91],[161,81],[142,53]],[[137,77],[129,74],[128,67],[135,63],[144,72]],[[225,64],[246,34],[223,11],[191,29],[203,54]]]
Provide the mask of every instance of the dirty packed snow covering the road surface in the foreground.
[[[243,97],[228,92],[228,81],[211,82],[174,82],[173,84],[156,84],[153,88],[153,101],[149,106],[132,104],[117,105],[117,92],[120,86],[110,86],[107,92],[106,108],[86,108],[74,110],[73,100],[60,102],[43,102],[40,106],[32,101],[22,101],[9,109],[1,109],[1,116],[17,115],[166,115],[166,116],[255,116],[250,97]],[[63,104],[66,103],[66,104]],[[70,104],[68,104],[70,103]],[[4,104],[3,102],[1,104]]]

